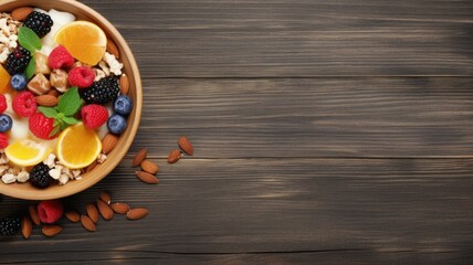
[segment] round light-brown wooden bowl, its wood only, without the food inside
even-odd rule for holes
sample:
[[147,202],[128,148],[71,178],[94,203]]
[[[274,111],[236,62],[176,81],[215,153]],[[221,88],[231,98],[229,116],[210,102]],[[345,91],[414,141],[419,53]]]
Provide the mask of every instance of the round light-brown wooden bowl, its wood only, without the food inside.
[[127,74],[130,86],[128,95],[134,103],[134,109],[128,116],[128,127],[119,137],[117,147],[108,155],[104,163],[97,165],[92,171],[84,173],[81,180],[71,180],[65,186],[53,184],[44,190],[27,183],[4,184],[0,181],[0,193],[25,200],[51,200],[67,197],[83,191],[105,178],[123,159],[132,146],[141,117],[143,92],[141,80],[135,57],[123,39],[122,34],[104,17],[74,0],[2,0],[0,11],[12,11],[19,7],[36,7],[44,10],[55,9],[73,13],[77,20],[87,20],[101,26],[105,34],[113,40],[120,53],[120,62],[124,64],[124,73]]

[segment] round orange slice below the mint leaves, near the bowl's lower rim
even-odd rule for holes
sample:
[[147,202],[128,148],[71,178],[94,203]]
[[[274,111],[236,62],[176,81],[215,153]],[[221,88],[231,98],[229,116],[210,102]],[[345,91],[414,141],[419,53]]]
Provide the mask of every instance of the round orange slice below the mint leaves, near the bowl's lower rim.
[[101,153],[102,142],[95,130],[80,123],[63,130],[57,138],[56,155],[70,169],[85,168]]

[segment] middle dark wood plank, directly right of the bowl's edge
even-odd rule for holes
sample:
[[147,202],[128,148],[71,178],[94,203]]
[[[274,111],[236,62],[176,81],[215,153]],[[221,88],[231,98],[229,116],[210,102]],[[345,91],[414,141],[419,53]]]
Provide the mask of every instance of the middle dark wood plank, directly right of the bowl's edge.
[[[146,80],[137,141],[164,157],[473,155],[472,78]],[[136,149],[134,149],[136,151]]]

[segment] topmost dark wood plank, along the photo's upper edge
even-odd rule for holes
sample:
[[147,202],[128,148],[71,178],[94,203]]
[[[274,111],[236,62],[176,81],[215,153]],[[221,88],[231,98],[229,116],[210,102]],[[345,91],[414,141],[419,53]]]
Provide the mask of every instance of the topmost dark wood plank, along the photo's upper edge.
[[123,32],[145,77],[473,74],[469,0],[83,2]]

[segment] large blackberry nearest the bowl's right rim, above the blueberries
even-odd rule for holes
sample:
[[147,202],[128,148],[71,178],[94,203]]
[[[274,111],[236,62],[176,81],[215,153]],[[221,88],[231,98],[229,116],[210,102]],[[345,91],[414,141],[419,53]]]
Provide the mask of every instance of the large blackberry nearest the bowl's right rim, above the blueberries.
[[107,104],[115,100],[119,94],[118,78],[116,76],[104,77],[87,88],[78,89],[78,93],[87,104]]

